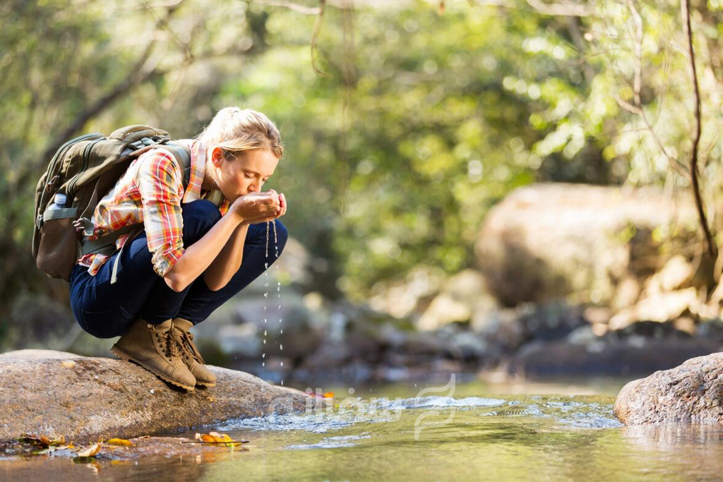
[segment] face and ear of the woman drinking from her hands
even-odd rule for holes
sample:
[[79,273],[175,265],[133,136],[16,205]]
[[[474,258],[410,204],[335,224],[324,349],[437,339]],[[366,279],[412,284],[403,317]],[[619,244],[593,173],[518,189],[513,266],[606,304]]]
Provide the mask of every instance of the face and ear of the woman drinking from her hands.
[[249,192],[260,192],[278,164],[278,158],[268,149],[247,150],[236,159],[226,160],[221,148],[214,147],[211,160],[218,189],[231,202]]

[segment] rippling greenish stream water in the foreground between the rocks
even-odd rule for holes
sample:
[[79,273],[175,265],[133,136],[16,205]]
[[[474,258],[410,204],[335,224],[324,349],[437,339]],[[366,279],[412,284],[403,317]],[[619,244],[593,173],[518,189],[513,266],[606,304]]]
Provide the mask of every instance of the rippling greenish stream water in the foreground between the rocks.
[[[249,452],[213,462],[143,460],[132,470],[101,462],[93,473],[68,460],[23,468],[0,460],[0,480],[688,481],[723,473],[716,424],[624,427],[611,395],[500,395],[458,384],[454,399],[415,400],[421,388],[369,387],[348,410],[228,421],[216,429],[250,440]],[[388,400],[372,403],[372,394]]]

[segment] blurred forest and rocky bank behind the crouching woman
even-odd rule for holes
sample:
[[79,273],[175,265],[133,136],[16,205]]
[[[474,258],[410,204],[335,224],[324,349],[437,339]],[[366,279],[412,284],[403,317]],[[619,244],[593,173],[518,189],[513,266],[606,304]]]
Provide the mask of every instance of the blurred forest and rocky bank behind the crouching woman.
[[723,345],[718,0],[7,0],[0,17],[2,350],[114,341],[80,331],[30,254],[56,148],[127,124],[192,137],[224,106],[281,129],[264,189],[286,193],[293,239],[270,270],[285,332],[262,345],[257,280],[197,327],[211,363],[628,375]]

